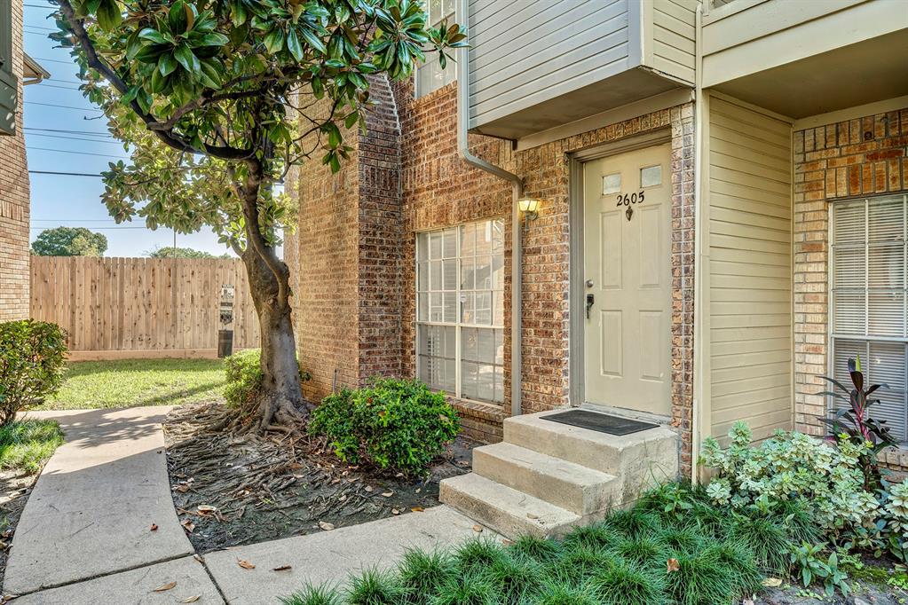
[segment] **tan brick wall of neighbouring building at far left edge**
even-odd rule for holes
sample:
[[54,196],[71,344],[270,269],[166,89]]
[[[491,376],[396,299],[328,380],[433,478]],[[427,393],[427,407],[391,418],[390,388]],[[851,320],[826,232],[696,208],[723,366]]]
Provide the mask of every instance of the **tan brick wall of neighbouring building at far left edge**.
[[28,317],[28,166],[22,131],[22,4],[13,3],[13,63],[19,79],[16,134],[0,134],[0,321]]

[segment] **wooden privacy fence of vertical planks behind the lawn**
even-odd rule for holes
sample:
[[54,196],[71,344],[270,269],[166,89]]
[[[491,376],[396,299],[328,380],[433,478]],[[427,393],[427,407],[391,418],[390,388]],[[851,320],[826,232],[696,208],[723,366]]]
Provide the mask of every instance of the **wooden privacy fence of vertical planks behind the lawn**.
[[221,287],[234,286],[233,349],[259,346],[239,259],[31,259],[31,317],[69,334],[70,359],[214,357]]

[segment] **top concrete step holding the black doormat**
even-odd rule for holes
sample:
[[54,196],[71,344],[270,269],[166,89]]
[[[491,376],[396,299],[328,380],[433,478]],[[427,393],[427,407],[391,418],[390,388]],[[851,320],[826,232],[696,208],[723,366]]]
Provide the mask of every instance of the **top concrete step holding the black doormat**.
[[[504,441],[614,474],[634,483],[632,491],[639,490],[643,484],[676,478],[678,436],[669,427],[657,426],[625,435],[606,434],[544,419],[555,412],[506,418]],[[642,482],[643,479],[646,481]],[[633,493],[629,496],[636,499]]]

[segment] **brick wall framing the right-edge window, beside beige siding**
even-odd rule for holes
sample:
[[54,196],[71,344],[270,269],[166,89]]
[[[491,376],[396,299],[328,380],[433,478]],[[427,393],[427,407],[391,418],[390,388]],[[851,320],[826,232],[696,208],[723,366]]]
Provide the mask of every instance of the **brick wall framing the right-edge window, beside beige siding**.
[[[825,434],[829,201],[908,190],[908,108],[795,132],[795,428]],[[908,453],[888,454],[908,470]]]

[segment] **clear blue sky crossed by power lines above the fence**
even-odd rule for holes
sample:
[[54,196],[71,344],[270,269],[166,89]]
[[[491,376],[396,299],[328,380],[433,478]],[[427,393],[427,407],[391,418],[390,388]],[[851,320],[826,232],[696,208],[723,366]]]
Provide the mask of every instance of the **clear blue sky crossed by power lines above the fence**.
[[[25,0],[25,52],[52,76],[43,83],[25,87],[28,168],[97,174],[107,168],[108,161],[125,159],[126,155],[123,145],[109,136],[104,118],[98,118],[101,112],[77,90],[78,69],[69,53],[54,48],[55,43],[47,39],[50,28],[54,27],[53,20],[46,18],[50,12],[41,0]],[[108,242],[104,256],[145,256],[153,249],[173,245],[170,229],[145,229],[142,220],[114,223],[101,201],[104,186],[100,178],[34,172],[30,176],[33,241],[42,229],[65,225],[104,233]],[[212,254],[227,251],[210,229],[192,235],[178,234],[176,241],[177,246]]]

